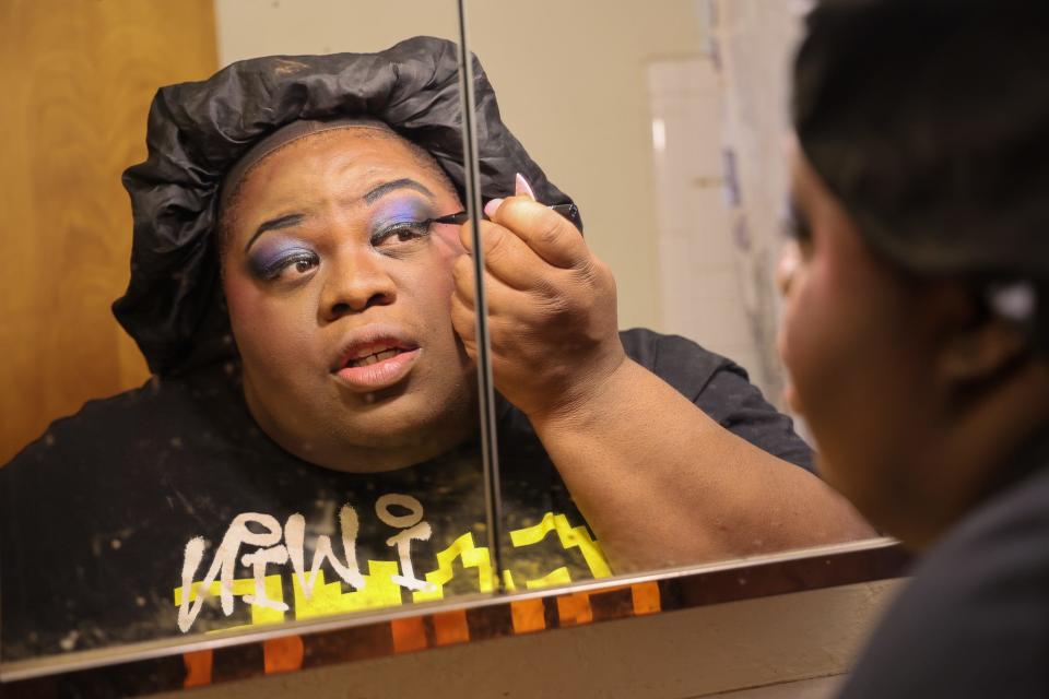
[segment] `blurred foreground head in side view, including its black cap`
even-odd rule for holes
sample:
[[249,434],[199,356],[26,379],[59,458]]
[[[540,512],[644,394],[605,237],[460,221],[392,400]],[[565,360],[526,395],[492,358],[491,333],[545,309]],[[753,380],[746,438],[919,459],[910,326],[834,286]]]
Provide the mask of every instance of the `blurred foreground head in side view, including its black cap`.
[[1049,2],[825,0],[806,28],[788,398],[828,482],[923,547],[1049,445]]

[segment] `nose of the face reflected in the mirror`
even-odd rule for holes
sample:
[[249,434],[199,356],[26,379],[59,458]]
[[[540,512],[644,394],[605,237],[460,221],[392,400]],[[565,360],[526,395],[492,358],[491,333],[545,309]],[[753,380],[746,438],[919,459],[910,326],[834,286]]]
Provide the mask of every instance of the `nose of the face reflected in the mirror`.
[[397,285],[384,258],[368,248],[346,250],[328,259],[320,313],[331,322],[373,306],[388,306],[397,299]]

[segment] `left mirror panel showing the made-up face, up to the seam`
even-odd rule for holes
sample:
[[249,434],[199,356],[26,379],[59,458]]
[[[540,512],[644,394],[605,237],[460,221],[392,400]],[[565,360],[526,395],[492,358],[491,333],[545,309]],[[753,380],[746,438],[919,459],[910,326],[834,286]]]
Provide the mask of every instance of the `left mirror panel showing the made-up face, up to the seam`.
[[[292,114],[305,71],[297,55],[448,37],[401,49],[378,78],[352,60],[314,70],[378,83],[375,103],[403,99],[387,96],[409,81],[390,66],[428,70],[416,90],[444,98],[434,119],[458,138],[456,8],[419,8],[405,22],[393,7],[340,3],[5,7],[5,44],[28,61],[27,70],[4,63],[23,87],[5,151],[31,175],[17,178],[24,196],[5,211],[12,229],[39,232],[12,236],[24,248],[16,257],[49,271],[5,263],[14,306],[5,345],[16,352],[4,374],[16,390],[4,399],[15,419],[4,420],[3,461],[39,439],[3,469],[4,663],[493,591],[475,368],[445,300],[459,228],[419,224],[461,211],[461,196],[426,151],[374,127],[299,134],[257,157],[235,185],[228,175],[235,157],[254,157],[231,141],[258,140]],[[195,111],[192,91],[166,93],[154,116],[177,122],[189,145],[163,143],[174,130],[157,129],[152,157],[170,163],[127,176],[135,192],[164,192],[135,199],[144,210],[135,245],[145,250],[134,264],[140,281],[153,281],[129,312],[148,324],[166,323],[154,306],[176,304],[167,280],[180,276],[179,293],[190,297],[216,283],[188,246],[163,237],[176,227],[164,228],[165,216],[178,235],[191,238],[198,226],[202,239],[217,239],[219,226],[203,218],[222,211],[223,241],[200,244],[202,256],[222,258],[222,294],[200,298],[222,305],[232,328],[209,328],[204,313],[186,311],[191,299],[170,313],[199,325],[195,346],[237,351],[199,362],[154,354],[161,368],[150,379],[109,312],[128,283],[131,249],[120,173],[146,155],[157,87],[274,55],[291,58],[241,63],[229,91],[195,88],[225,115]],[[264,90],[254,86],[257,74]],[[190,114],[165,111],[165,98]],[[333,110],[321,102],[295,108],[327,119]],[[214,158],[198,154],[205,139]],[[208,171],[189,182],[195,167]],[[333,200],[343,217],[326,213]],[[146,269],[151,252],[189,261]],[[325,424],[340,412],[342,426]],[[319,455],[327,441],[356,453],[334,463]]]

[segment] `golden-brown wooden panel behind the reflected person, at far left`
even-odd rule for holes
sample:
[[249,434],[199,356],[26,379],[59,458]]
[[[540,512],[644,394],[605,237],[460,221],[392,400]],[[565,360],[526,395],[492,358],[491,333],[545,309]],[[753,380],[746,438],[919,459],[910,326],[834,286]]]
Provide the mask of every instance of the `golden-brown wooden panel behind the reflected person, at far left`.
[[217,66],[212,0],[0,0],[0,464],[149,377],[109,304],[128,280],[120,174],[160,85]]

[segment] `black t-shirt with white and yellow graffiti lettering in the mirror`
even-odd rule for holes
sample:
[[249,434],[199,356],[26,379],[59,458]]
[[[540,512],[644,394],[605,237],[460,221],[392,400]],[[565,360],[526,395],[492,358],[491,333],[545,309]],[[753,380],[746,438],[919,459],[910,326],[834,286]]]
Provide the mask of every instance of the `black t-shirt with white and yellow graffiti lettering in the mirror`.
[[[622,337],[721,425],[811,467],[741,368],[683,337]],[[213,366],[89,402],[0,470],[4,660],[493,589],[478,445],[389,473],[319,467],[257,427],[237,374]],[[612,574],[505,403],[498,438],[500,583]]]

